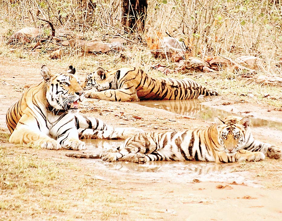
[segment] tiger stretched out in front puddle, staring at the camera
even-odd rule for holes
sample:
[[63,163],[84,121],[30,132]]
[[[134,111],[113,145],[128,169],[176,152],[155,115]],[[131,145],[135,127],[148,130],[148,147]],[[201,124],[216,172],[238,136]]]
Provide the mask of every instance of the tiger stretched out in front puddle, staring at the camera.
[[217,118],[206,129],[167,133],[140,133],[125,140],[118,152],[101,155],[104,161],[145,163],[161,160],[212,162],[259,161],[266,156],[281,159],[282,150],[255,140],[248,117]]

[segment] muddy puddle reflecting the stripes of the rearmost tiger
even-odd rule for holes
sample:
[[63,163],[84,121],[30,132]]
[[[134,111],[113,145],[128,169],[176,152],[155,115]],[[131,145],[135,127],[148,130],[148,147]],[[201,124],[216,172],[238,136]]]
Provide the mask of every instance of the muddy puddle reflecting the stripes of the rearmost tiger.
[[[238,114],[230,113],[228,111],[223,111],[215,109],[212,107],[205,106],[201,104],[204,99],[193,99],[193,100],[176,100],[176,101],[140,101],[137,104],[146,107],[164,109],[176,114],[181,114],[188,117],[193,117],[195,119],[208,120],[214,122],[215,117],[224,118],[227,116],[239,116]],[[244,116],[248,116],[245,114]],[[244,117],[241,116],[241,117]],[[252,127],[269,127],[275,128],[276,130],[282,130],[282,123],[263,120],[251,117]]]

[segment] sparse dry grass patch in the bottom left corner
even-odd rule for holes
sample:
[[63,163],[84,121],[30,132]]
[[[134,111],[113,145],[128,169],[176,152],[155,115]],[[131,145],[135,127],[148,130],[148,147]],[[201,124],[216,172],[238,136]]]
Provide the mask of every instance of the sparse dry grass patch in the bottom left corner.
[[102,191],[95,172],[44,160],[37,151],[20,153],[1,146],[1,220],[91,220],[93,213],[97,220],[111,220],[126,214],[130,202],[113,190]]

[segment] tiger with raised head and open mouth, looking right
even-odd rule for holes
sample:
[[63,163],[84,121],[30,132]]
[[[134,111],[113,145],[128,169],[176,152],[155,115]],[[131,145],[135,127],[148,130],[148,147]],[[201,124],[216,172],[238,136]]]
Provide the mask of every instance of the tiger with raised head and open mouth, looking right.
[[9,142],[78,150],[85,146],[79,138],[125,139],[143,132],[135,128],[113,128],[102,120],[79,114],[77,108],[83,90],[74,73],[72,66],[67,73],[55,74],[42,66],[43,82],[30,87],[8,109]]

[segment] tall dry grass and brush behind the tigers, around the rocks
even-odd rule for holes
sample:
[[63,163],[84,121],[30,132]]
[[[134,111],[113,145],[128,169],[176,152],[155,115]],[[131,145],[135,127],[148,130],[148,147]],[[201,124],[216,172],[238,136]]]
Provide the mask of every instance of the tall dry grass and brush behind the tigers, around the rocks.
[[[255,82],[260,75],[282,76],[281,69],[275,66],[281,58],[282,34],[280,28],[281,4],[273,1],[148,1],[147,21],[144,34],[130,36],[121,31],[119,20],[121,18],[121,7],[117,1],[96,2],[96,8],[92,11],[92,20],[89,11],[81,14],[70,13],[78,3],[63,4],[60,1],[48,2],[46,5],[36,5],[34,1],[25,0],[14,5],[7,2],[1,3],[0,9],[4,20],[0,23],[0,34],[9,37],[18,29],[27,26],[27,22],[34,24],[31,14],[44,17],[53,22],[56,30],[72,31],[73,34],[82,36],[83,39],[91,40],[100,38],[104,42],[116,36],[127,39],[126,48],[122,53],[109,52],[107,54],[85,54],[81,53],[81,47],[61,47],[47,42],[41,46],[38,58],[30,55],[30,48],[35,41],[29,45],[11,46],[1,44],[0,54],[4,56],[16,56],[20,58],[40,60],[44,64],[56,62],[61,66],[72,64],[79,70],[92,71],[98,66],[113,68],[122,66],[138,66],[154,76],[164,76],[153,69],[157,63],[166,64],[171,69],[176,68],[169,59],[154,58],[146,46],[147,36],[156,36],[158,32],[163,36],[166,33],[182,39],[187,50],[194,56],[204,58],[206,56],[220,55],[235,59],[241,55],[255,55],[262,58],[258,64],[257,75],[253,78],[241,78],[238,72],[220,70],[216,74],[198,75],[196,72],[183,71],[179,78],[193,78],[208,88],[219,91],[220,94],[233,94],[241,98],[241,94],[253,94],[250,100],[259,101],[262,104],[270,104],[281,107],[282,93],[279,86],[263,86]],[[30,6],[30,7],[26,7]],[[60,10],[54,10],[59,8]],[[78,8],[77,8],[78,10]],[[16,14],[15,17],[9,14]],[[59,14],[58,14],[59,13]],[[66,17],[62,16],[66,13]],[[60,17],[61,16],[61,17]],[[60,17],[60,19],[59,19]],[[35,18],[35,16],[34,16]],[[63,22],[63,25],[61,22]],[[74,22],[77,21],[77,22]],[[50,27],[35,18],[37,27],[42,27],[45,36],[50,33]],[[64,54],[61,59],[52,61],[49,58],[50,48],[62,48]],[[277,100],[263,98],[265,94],[277,98]]]

